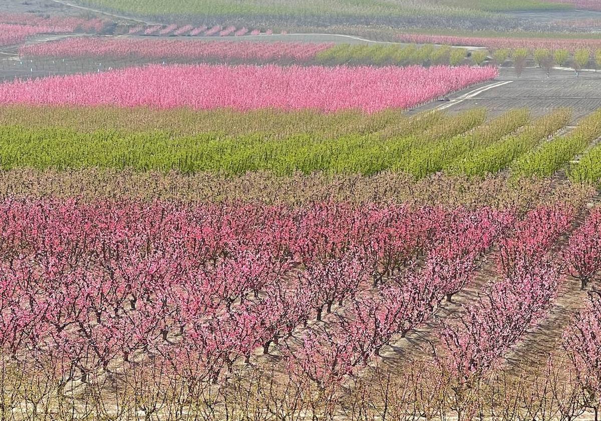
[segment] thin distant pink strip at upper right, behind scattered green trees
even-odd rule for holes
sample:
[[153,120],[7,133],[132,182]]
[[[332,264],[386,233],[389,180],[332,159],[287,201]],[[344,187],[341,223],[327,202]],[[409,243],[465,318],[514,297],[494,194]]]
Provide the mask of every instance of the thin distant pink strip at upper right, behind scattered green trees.
[[537,48],[546,48],[551,50],[567,49],[575,51],[577,49],[596,50],[601,48],[601,39],[599,38],[512,38],[512,37],[463,37],[454,35],[426,35],[426,34],[400,34],[397,39],[407,43],[418,44],[442,44],[452,46],[473,46],[486,48],[526,48],[534,51]]

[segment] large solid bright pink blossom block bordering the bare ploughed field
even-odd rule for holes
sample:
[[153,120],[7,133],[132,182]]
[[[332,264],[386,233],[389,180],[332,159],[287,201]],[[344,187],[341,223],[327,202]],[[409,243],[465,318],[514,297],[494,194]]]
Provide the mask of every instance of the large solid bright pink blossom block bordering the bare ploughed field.
[[493,79],[493,67],[146,66],[7,82],[0,103],[193,109],[409,108]]

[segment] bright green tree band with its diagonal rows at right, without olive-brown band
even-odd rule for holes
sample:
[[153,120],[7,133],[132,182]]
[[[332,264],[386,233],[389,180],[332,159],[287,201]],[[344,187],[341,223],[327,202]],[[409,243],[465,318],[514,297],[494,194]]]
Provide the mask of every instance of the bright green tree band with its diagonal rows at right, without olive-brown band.
[[[570,117],[568,109],[556,109],[534,121],[526,109],[490,121],[483,108],[456,115],[433,111],[398,118],[395,124],[371,132],[328,137],[313,131],[282,137],[263,131],[173,135],[156,130],[82,131],[1,124],[0,168],[132,168],[225,176],[248,171],[281,176],[316,171],[371,175],[388,170],[421,179],[441,170],[475,177],[509,167],[516,176],[544,177],[601,137],[601,111],[597,111],[570,134],[546,141]],[[599,183],[599,149],[591,149],[573,165],[570,177]]]

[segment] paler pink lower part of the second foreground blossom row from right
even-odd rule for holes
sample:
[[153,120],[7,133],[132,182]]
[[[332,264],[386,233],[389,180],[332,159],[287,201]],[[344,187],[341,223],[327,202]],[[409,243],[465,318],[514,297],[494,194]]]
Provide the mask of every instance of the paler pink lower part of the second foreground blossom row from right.
[[468,304],[456,321],[444,322],[441,363],[468,384],[496,367],[502,356],[546,314],[557,295],[560,268],[543,259],[520,265]]

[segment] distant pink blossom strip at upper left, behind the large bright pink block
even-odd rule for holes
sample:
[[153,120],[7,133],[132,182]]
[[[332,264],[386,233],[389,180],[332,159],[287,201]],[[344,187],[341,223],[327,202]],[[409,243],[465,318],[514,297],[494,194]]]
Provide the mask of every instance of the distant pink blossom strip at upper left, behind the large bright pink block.
[[22,46],[21,57],[107,57],[107,58],[182,58],[257,59],[292,58],[308,60],[331,43],[261,43],[251,41],[180,41],[139,40],[123,38],[67,38],[64,40]]

